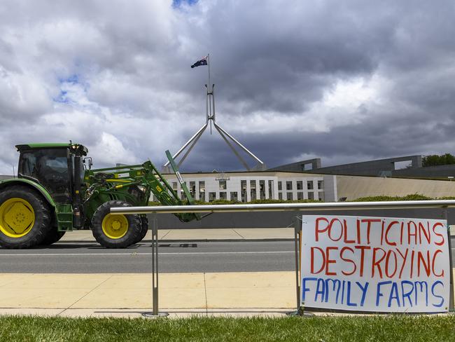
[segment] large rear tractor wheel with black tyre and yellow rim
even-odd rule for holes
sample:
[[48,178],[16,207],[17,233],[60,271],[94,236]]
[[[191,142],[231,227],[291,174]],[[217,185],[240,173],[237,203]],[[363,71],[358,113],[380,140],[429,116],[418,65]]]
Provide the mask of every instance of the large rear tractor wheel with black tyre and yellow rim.
[[27,186],[11,186],[0,192],[0,245],[29,248],[39,245],[50,231],[48,203]]

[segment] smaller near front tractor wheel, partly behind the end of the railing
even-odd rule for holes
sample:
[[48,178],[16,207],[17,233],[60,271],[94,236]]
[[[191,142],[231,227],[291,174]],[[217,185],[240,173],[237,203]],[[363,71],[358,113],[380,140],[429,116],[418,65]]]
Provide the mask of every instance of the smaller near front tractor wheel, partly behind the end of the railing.
[[122,200],[103,203],[92,217],[92,233],[97,242],[107,248],[126,248],[141,235],[139,215],[111,214],[112,207],[130,207]]

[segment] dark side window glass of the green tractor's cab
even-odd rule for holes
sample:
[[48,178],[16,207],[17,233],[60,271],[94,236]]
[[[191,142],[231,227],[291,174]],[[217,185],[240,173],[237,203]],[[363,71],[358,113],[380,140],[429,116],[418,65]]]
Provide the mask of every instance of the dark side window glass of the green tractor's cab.
[[71,203],[68,172],[68,149],[22,151],[20,175],[36,179],[55,202]]

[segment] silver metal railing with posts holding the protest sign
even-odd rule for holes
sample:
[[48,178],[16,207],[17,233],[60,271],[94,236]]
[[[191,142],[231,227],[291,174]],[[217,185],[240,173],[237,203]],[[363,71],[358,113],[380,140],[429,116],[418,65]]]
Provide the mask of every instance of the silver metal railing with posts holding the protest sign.
[[[443,208],[444,219],[447,220],[447,208],[455,207],[455,200],[406,200],[388,202],[333,202],[333,203],[267,203],[267,204],[234,204],[234,205],[169,205],[169,206],[150,206],[150,207],[113,207],[113,214],[177,214],[185,212],[290,212],[306,210],[372,210],[372,209],[420,209],[420,208]],[[155,215],[154,215],[155,216]],[[296,272],[296,292],[297,310],[300,307],[300,278],[298,275],[300,268],[300,251],[298,240],[300,240],[299,221],[294,220],[295,229],[295,272]],[[451,239],[449,222],[447,221],[447,234],[449,236],[449,266],[453,270],[451,260]],[[165,315],[158,312],[158,223],[154,217],[152,220],[153,232],[153,313],[151,316]],[[449,297],[449,309],[454,310],[454,280],[453,272],[450,273],[451,292]]]

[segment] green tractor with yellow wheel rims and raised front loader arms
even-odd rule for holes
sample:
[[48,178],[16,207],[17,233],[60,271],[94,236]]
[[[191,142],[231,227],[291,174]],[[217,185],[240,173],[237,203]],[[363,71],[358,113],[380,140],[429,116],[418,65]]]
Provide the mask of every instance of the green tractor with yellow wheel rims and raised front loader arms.
[[[151,193],[162,205],[193,204],[176,169],[186,200],[150,160],[92,170],[87,148],[80,144],[22,144],[18,178],[0,181],[0,246],[29,248],[57,242],[66,231],[91,229],[100,245],[125,248],[147,233],[144,214],[111,214],[111,207],[148,205]],[[181,221],[198,214],[176,214]]]

